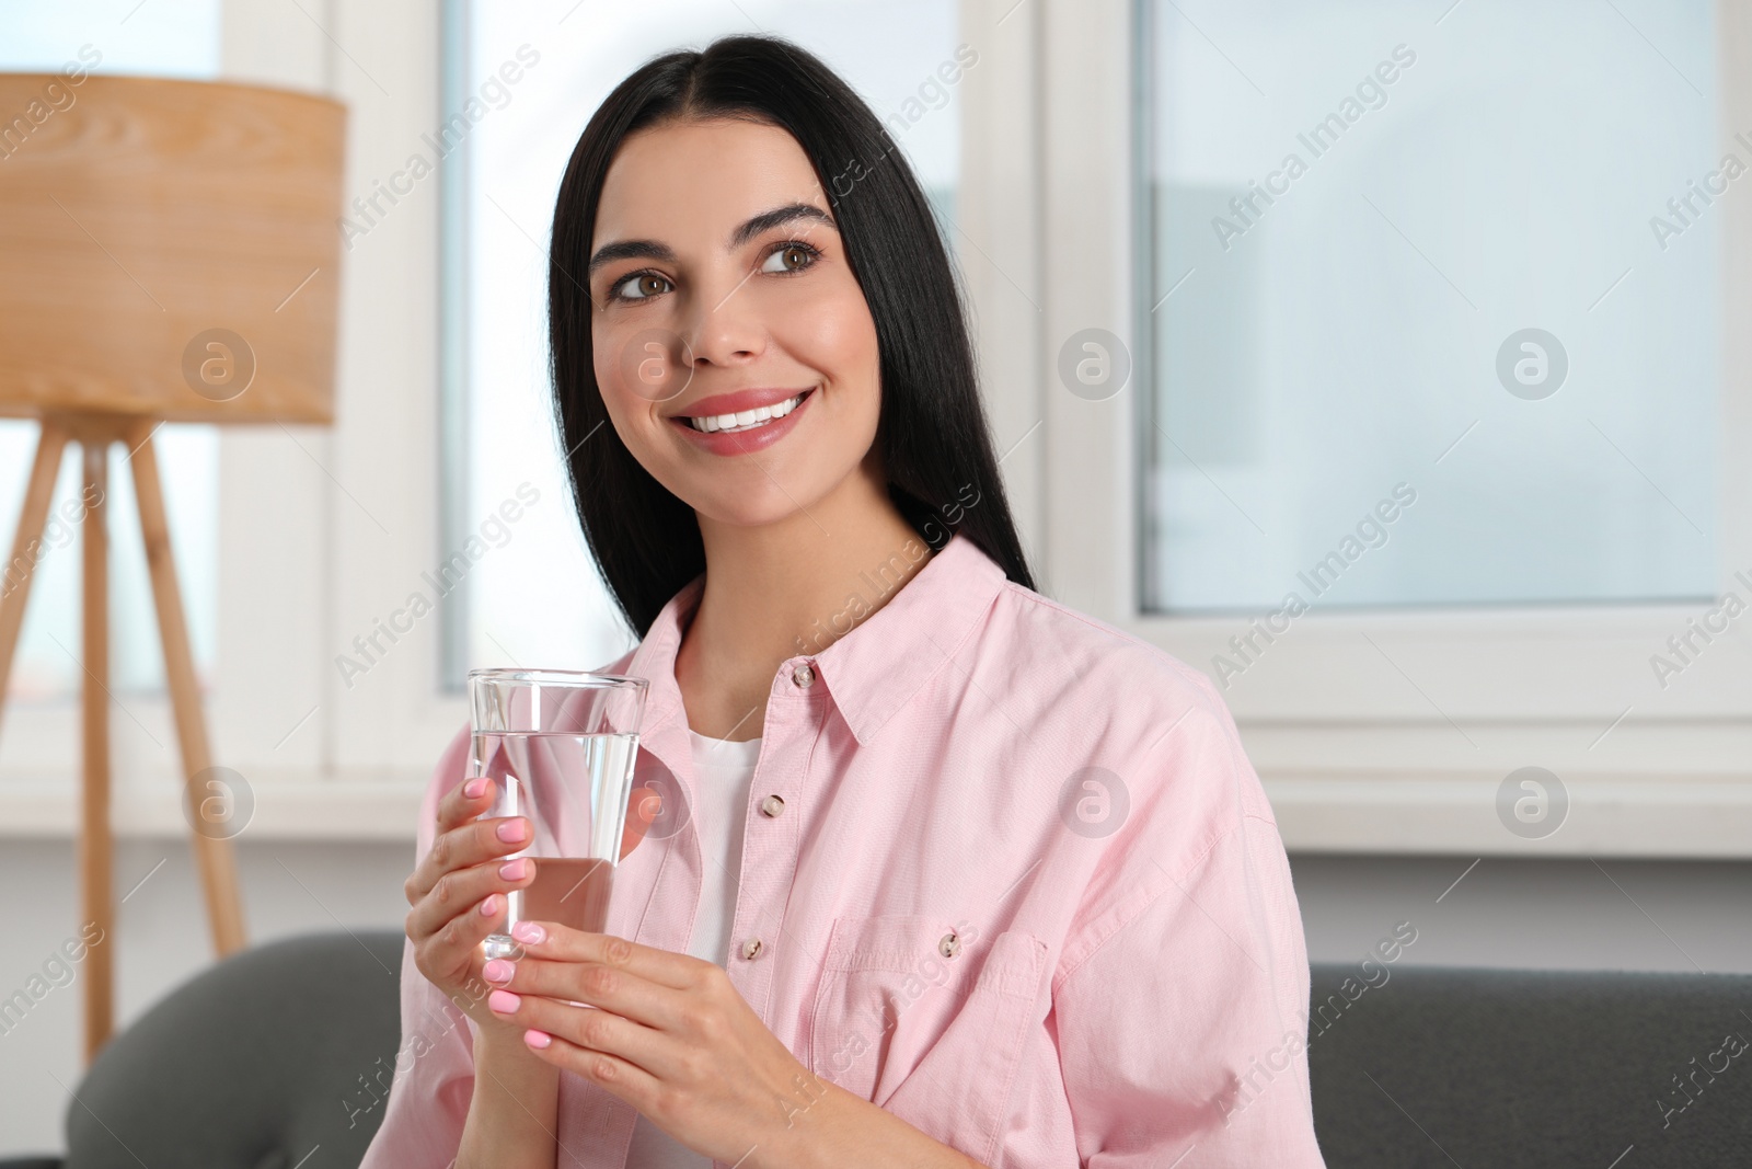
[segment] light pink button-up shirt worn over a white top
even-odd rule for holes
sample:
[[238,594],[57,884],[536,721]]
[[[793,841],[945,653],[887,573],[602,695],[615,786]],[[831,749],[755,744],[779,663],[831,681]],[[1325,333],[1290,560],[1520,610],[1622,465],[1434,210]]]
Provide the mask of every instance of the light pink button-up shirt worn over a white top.
[[[650,680],[638,775],[687,806],[675,654],[703,584],[606,668]],[[846,612],[880,587],[865,577]],[[864,624],[783,662],[762,740],[727,969],[816,1074],[992,1169],[1323,1165],[1289,866],[1202,673],[955,536]],[[464,727],[417,857],[468,757]],[[706,862],[690,824],[646,838],[608,931],[685,952]],[[412,943],[401,1031],[364,1167],[440,1169],[475,1022]],[[622,1167],[636,1116],[562,1073],[559,1164]]]

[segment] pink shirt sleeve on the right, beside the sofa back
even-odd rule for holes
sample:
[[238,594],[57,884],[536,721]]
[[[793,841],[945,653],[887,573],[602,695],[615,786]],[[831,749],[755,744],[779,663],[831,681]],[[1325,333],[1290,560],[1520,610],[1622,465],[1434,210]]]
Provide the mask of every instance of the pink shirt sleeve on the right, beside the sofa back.
[[1099,882],[1109,894],[1084,918],[1100,936],[1055,976],[1088,1169],[1325,1165],[1289,862],[1232,720],[1211,713],[1181,727],[1139,792]]

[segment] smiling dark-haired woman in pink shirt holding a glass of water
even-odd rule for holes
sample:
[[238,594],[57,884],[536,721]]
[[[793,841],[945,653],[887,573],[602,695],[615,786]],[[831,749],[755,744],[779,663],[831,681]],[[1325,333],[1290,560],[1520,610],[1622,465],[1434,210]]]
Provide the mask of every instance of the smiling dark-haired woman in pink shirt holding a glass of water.
[[366,1165],[1319,1165],[1260,782],[1202,675],[1034,592],[851,89],[764,37],[632,74],[561,184],[550,328],[666,803],[604,934],[484,964],[529,827],[456,736]]

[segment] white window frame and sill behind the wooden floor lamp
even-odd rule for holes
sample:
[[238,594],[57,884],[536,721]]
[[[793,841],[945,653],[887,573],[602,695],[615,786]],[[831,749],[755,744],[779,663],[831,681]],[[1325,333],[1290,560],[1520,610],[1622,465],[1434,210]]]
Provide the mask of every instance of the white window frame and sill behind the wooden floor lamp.
[[[438,123],[434,0],[333,0],[315,18],[224,0],[221,28],[221,79],[347,103],[349,200]],[[424,195],[343,252],[335,424],[219,431],[219,645],[203,701],[214,762],[254,796],[245,838],[412,840],[433,764],[468,719],[433,685],[431,617],[352,687],[335,662],[438,561],[440,209],[436,186]],[[114,698],[117,836],[184,836],[168,696]],[[75,834],[79,698],[5,715],[5,832]]]

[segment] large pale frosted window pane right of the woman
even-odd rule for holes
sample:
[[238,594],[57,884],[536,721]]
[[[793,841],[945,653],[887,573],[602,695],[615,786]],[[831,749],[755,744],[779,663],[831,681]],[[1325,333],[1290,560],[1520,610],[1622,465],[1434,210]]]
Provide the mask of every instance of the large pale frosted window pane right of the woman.
[[1146,605],[1713,594],[1712,7],[1146,2]]

